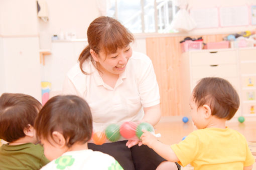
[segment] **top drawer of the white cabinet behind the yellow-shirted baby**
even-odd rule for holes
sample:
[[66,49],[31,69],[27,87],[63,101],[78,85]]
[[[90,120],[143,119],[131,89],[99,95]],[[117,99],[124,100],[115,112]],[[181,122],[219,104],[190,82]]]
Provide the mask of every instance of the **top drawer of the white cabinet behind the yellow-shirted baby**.
[[191,52],[192,65],[234,64],[236,60],[235,50]]

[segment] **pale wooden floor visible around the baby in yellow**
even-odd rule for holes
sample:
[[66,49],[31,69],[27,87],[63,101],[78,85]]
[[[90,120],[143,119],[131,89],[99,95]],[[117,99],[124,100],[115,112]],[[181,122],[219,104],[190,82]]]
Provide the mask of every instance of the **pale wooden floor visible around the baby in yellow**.
[[[239,123],[233,118],[232,121],[226,123],[230,128],[233,128],[242,133],[249,143],[249,147],[252,154],[256,158],[256,119],[247,120],[243,123]],[[196,127],[192,121],[189,120],[187,123],[182,121],[182,117],[163,117],[160,122],[155,126],[155,132],[161,133],[160,141],[166,144],[178,143],[182,138],[188,135],[190,132],[195,130]],[[182,167],[182,170],[193,169],[190,165]],[[253,165],[253,170],[256,170],[256,163]]]

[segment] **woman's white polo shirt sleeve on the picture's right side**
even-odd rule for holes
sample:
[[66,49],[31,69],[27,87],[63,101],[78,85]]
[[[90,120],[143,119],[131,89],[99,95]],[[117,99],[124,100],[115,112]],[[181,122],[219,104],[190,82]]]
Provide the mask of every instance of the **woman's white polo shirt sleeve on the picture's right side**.
[[152,61],[148,56],[141,62],[139,78],[139,93],[143,107],[150,107],[160,103],[159,87]]

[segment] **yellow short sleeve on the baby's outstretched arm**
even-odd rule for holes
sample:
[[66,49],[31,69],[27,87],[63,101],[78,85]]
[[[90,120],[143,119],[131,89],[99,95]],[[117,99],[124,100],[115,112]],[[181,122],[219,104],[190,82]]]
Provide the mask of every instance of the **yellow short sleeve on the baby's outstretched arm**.
[[180,143],[171,145],[171,148],[180,160],[178,163],[182,166],[186,166],[196,158],[199,145],[198,136],[190,133]]

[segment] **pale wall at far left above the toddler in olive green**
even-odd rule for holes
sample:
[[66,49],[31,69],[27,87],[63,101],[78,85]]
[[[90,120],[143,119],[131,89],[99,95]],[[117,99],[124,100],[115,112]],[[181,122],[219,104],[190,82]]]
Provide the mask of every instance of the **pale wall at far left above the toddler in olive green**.
[[0,1],[0,94],[20,92],[41,101],[36,0]]

